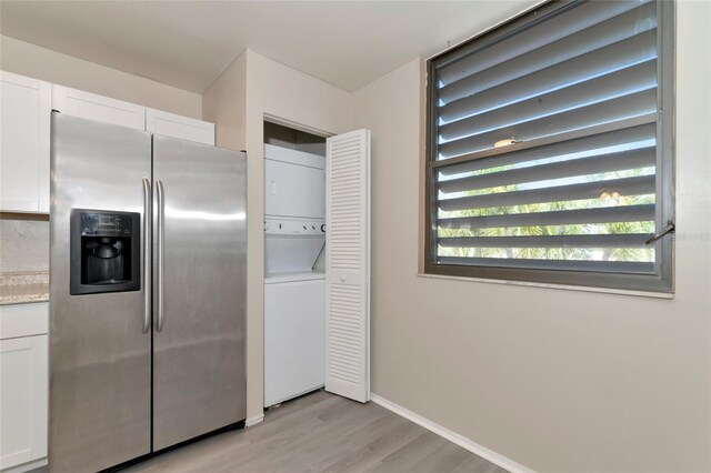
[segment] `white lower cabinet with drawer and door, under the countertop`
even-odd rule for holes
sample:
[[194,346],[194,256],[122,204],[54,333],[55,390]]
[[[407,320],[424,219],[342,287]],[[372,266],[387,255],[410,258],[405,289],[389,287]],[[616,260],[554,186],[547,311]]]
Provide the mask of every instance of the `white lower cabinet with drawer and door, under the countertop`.
[[[47,457],[47,303],[4,305],[0,312],[0,470]],[[20,316],[27,316],[23,323]],[[18,335],[21,326],[27,330]],[[43,331],[44,333],[34,333]]]

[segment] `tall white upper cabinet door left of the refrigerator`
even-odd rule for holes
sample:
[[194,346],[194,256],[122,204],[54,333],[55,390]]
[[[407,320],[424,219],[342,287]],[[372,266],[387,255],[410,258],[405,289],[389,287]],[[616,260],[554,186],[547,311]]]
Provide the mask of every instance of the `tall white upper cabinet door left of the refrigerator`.
[[49,212],[51,84],[0,72],[0,210]]

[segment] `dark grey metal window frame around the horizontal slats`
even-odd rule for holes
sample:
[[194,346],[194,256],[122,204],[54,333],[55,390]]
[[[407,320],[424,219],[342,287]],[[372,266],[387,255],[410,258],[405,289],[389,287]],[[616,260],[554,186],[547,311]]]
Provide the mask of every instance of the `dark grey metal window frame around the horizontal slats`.
[[[427,61],[427,91],[425,91],[425,159],[424,159],[424,225],[422,272],[432,275],[448,275],[457,278],[472,278],[487,280],[515,281],[521,283],[541,283],[561,286],[584,286],[607,290],[642,291],[654,293],[672,293],[673,265],[674,265],[674,238],[667,235],[658,240],[659,245],[654,263],[654,274],[632,274],[622,272],[595,272],[584,270],[550,270],[525,269],[509,266],[484,265],[458,265],[437,263],[437,170],[457,162],[465,162],[472,159],[490,158],[498,154],[508,154],[512,151],[527,148],[537,148],[542,144],[572,140],[575,138],[597,134],[635,124],[657,123],[655,147],[655,217],[657,231],[668,223],[675,221],[674,215],[674,139],[675,139],[675,111],[674,111],[674,78],[675,78],[675,1],[657,0],[658,34],[657,43],[658,61],[658,111],[649,115],[638,117],[615,123],[598,125],[582,131],[562,133],[560,135],[535,140],[534,142],[515,143],[505,148],[493,148],[475,153],[437,160],[438,150],[438,123],[437,123],[437,88],[435,69],[445,63],[451,63],[503,37],[515,34],[518,31],[544,21],[550,14],[564,11],[580,0],[550,0],[543,4],[533,7],[513,19],[495,26],[470,40],[443,51]],[[650,120],[650,117],[652,119]],[[622,125],[621,125],[622,124]]]

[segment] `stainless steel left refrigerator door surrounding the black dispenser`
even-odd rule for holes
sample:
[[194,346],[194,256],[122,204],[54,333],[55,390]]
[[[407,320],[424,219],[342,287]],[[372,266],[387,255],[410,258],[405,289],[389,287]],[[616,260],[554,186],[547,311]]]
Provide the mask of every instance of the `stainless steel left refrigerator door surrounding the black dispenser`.
[[70,295],[70,212],[137,212],[142,230],[151,137],[52,113],[51,167],[49,470],[96,472],[150,452],[150,286]]

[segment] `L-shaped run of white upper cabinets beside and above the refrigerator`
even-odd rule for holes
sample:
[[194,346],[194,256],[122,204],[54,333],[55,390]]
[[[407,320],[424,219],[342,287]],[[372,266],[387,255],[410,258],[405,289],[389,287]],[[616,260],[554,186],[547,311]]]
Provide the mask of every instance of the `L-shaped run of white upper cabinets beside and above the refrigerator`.
[[71,115],[214,145],[214,124],[0,71],[0,211],[49,213],[50,117]]

